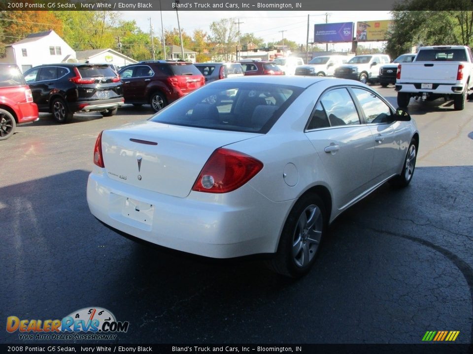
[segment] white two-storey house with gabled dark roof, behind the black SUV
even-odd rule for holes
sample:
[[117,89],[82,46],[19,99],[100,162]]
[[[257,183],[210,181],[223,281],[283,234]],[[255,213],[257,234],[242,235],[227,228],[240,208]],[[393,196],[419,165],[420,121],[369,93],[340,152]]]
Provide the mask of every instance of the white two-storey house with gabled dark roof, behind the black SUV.
[[0,62],[16,63],[23,72],[40,64],[77,62],[74,50],[52,29],[32,33],[6,46],[5,52]]

